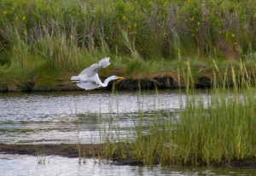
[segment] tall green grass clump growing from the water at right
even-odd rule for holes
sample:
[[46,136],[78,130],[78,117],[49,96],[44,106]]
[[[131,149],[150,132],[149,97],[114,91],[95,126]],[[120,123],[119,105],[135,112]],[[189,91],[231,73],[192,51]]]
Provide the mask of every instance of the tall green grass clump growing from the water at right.
[[[145,116],[139,111],[135,133],[127,132],[129,139],[106,136],[108,158],[118,154],[115,157],[140,160],[145,165],[211,166],[255,161],[255,79],[240,66],[237,73],[231,66],[228,71],[232,77],[222,77],[221,83],[215,80],[207,95],[201,97],[189,86],[193,81],[188,65],[186,99],[180,99],[179,116],[173,118],[171,114],[152,110],[150,124],[145,127]],[[229,79],[234,88],[227,87]]]

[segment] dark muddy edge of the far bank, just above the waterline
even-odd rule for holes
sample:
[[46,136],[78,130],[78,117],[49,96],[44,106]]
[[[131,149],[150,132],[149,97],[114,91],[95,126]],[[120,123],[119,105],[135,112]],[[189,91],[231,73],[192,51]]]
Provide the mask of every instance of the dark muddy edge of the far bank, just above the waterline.
[[[107,77],[102,77],[104,80]],[[79,88],[75,84],[67,85],[67,86],[58,86],[63,82],[55,82],[55,85],[49,85],[44,87],[38,87],[33,85],[32,83],[28,83],[26,87],[19,87],[19,86],[0,86],[0,92],[53,92],[53,91],[81,91],[82,88]],[[68,83],[68,82],[64,82]],[[211,87],[211,77],[199,77],[195,82],[195,88],[210,88]],[[137,89],[147,89],[152,90],[155,88],[158,89],[176,89],[176,88],[185,88],[185,83],[181,81],[178,82],[176,77],[172,77],[170,75],[157,75],[150,78],[140,78],[140,79],[125,79],[119,80],[116,82],[109,82],[107,88],[98,88],[95,90],[112,90],[114,87],[118,90],[137,90]]]

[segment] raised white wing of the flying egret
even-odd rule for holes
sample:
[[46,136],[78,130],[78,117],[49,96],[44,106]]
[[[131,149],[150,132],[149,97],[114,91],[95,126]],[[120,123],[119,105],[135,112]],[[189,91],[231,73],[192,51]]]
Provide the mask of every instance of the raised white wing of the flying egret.
[[96,64],[90,65],[90,67],[84,69],[84,71],[80,72],[79,75],[94,75],[97,71],[99,71],[102,68],[105,68],[106,66],[110,65],[109,57],[104,58],[101,61],[99,61]]

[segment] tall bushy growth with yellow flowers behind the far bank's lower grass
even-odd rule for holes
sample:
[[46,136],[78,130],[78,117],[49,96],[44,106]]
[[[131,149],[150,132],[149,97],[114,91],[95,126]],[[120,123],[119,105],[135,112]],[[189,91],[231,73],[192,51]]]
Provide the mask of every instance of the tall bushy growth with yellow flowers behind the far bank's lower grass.
[[47,30],[89,50],[149,58],[191,54],[238,58],[255,52],[254,1],[3,0],[0,12],[1,48],[11,48],[15,42],[7,28],[14,26],[28,43]]

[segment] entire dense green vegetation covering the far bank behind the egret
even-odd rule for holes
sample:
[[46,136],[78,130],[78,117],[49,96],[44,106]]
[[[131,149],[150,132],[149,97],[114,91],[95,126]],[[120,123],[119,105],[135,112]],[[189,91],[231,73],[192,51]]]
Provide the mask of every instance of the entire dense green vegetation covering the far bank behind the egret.
[[0,89],[49,88],[105,56],[103,75],[133,79],[177,77],[188,60],[195,77],[212,59],[253,67],[255,28],[254,0],[2,0]]

